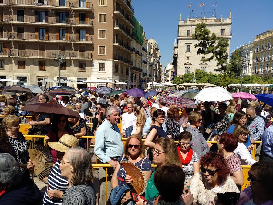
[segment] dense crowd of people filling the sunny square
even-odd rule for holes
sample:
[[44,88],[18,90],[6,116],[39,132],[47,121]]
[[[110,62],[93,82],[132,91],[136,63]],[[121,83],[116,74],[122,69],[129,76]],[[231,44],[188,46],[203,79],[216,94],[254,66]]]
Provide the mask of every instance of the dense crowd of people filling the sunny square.
[[[0,94],[0,204],[96,204],[90,152],[97,164],[110,165],[99,167],[99,205],[273,204],[273,108],[258,100],[239,104],[236,98],[195,101],[194,108],[180,108],[162,102],[170,94],[160,91],[147,98],[126,93],[106,97],[90,90],[60,97]],[[80,118],[21,111],[33,98],[61,104]],[[48,185],[44,195],[29,177],[35,163],[19,131],[23,121],[30,125],[29,135],[45,136],[36,143],[49,148],[54,157],[49,176],[42,180]],[[82,136],[95,139],[87,143]],[[125,144],[122,137],[127,138]],[[94,149],[88,151],[90,143]],[[133,177],[120,161],[131,162],[144,173],[147,186],[142,196],[133,197]],[[251,165],[250,187],[243,191],[242,165]]]

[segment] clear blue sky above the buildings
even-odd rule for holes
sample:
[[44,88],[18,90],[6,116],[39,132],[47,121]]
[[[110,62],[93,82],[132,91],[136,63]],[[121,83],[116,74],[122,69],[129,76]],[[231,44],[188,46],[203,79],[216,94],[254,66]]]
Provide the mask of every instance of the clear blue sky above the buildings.
[[[204,12],[216,9],[216,17],[229,17],[231,10],[230,52],[243,43],[254,41],[254,37],[266,29],[273,29],[273,0],[132,0],[136,19],[142,24],[147,39],[153,37],[161,51],[162,66],[166,66],[173,55],[174,40],[177,37],[179,14],[187,19],[191,13],[201,13],[199,6],[204,2]],[[212,5],[217,2],[217,6]],[[192,4],[189,9],[188,6]],[[203,14],[204,16],[204,14]]]

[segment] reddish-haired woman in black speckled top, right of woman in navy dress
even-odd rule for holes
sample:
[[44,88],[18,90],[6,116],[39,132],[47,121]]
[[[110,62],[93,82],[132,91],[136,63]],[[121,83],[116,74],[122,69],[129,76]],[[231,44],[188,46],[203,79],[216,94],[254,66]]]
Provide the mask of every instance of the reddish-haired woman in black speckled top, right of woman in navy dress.
[[179,123],[174,118],[175,118],[174,109],[167,110],[167,119],[165,120],[165,124],[167,127],[166,134],[168,135],[169,138],[177,140],[178,135],[180,133],[180,126]]

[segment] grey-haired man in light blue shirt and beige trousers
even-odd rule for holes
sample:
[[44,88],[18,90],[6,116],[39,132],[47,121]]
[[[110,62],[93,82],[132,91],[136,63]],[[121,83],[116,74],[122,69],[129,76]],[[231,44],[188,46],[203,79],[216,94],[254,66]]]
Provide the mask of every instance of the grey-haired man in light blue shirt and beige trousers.
[[[111,176],[116,168],[117,159],[123,155],[123,142],[120,130],[116,125],[119,111],[114,106],[106,108],[106,120],[99,125],[96,131],[94,152],[102,163],[109,163],[112,168],[107,169],[107,200],[111,193]],[[105,205],[105,178],[106,168],[99,168],[99,205]]]

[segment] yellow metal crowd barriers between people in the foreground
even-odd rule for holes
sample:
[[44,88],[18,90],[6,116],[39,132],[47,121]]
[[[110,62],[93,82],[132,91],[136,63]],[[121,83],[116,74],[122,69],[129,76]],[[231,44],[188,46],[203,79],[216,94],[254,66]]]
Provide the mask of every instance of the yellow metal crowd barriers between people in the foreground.
[[[34,143],[35,143],[35,138],[45,138],[45,136],[39,136],[39,135],[24,135],[25,139],[32,139],[34,138]],[[86,150],[88,150],[88,140],[89,139],[94,139],[95,137],[92,136],[82,136],[80,137],[81,139],[86,139]],[[121,138],[122,142],[125,143],[127,138]],[[145,143],[145,139],[142,139],[142,141]],[[176,143],[179,143],[178,141],[174,141]],[[216,144],[217,141],[207,141],[208,143],[212,143],[212,144]],[[254,144],[254,149],[252,151],[252,153],[254,153],[254,159],[255,159],[255,149],[256,149],[256,143],[262,143],[261,141],[256,141]],[[253,157],[253,154],[252,154]],[[153,167],[156,167],[156,165],[152,165]],[[99,169],[99,167],[103,167],[106,168],[105,172],[106,172],[106,176],[105,176],[105,181],[107,182],[107,171],[108,168],[111,167],[110,164],[97,164],[97,156],[96,156],[96,162],[95,164],[92,164],[92,168],[93,169]],[[241,190],[244,190],[245,188],[247,188],[250,185],[250,182],[247,180],[248,179],[248,171],[250,170],[251,166],[250,165],[242,165],[242,169],[243,169],[243,176],[244,176],[244,185],[241,187]],[[105,200],[107,201],[107,183],[105,183]]]

